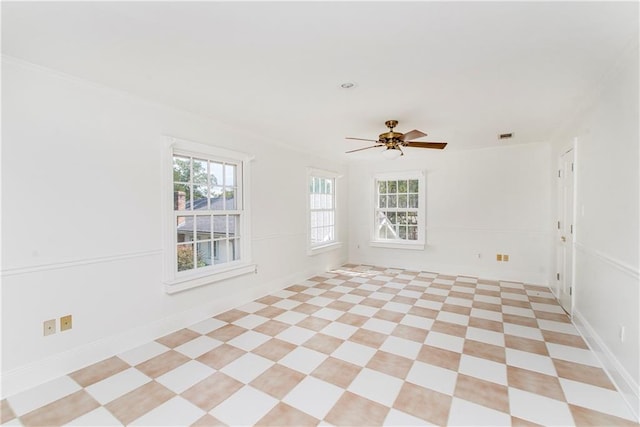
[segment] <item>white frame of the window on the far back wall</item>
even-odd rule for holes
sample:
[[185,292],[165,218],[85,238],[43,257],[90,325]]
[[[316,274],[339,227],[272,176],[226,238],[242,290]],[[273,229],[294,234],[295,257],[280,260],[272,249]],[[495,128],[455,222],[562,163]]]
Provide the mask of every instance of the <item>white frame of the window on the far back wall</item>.
[[[418,180],[418,239],[417,240],[404,240],[404,239],[380,239],[378,237],[378,211],[388,210],[388,208],[378,207],[378,181],[392,181],[392,180]],[[370,246],[392,249],[413,249],[424,250],[426,244],[426,188],[425,188],[425,172],[424,171],[404,171],[404,172],[387,172],[376,174],[372,177],[372,215],[371,215],[371,240]],[[401,209],[401,208],[397,208]]]

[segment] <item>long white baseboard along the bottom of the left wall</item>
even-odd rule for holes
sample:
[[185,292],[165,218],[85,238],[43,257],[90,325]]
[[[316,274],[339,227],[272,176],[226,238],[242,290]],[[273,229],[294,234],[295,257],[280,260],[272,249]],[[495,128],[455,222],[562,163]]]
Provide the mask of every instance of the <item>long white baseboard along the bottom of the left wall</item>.
[[247,289],[228,298],[200,305],[176,313],[131,331],[107,337],[59,353],[37,362],[21,366],[0,376],[1,398],[13,396],[22,391],[44,384],[86,366],[153,341],[171,332],[193,325],[226,310],[241,306],[257,298],[269,295],[296,282],[321,273],[308,270],[281,277],[265,284]]

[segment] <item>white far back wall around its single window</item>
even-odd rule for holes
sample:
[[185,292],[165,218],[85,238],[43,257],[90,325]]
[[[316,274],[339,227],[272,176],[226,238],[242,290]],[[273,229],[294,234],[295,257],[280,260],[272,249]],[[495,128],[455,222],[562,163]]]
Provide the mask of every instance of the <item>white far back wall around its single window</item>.
[[[349,167],[349,188],[361,189],[349,198],[349,260],[547,284],[548,163],[547,144],[505,143],[473,151],[407,149],[393,161],[371,153]],[[372,176],[402,170],[426,171],[424,251],[369,246]],[[508,254],[509,262],[496,261],[498,253]]]

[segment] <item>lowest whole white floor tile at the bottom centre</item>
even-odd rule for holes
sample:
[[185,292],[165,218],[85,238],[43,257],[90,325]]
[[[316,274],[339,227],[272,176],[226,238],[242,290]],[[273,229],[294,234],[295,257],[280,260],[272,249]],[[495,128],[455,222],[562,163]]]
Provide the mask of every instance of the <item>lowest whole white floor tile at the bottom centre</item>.
[[306,377],[282,401],[321,420],[329,413],[343,392],[344,389],[333,384],[315,377]]

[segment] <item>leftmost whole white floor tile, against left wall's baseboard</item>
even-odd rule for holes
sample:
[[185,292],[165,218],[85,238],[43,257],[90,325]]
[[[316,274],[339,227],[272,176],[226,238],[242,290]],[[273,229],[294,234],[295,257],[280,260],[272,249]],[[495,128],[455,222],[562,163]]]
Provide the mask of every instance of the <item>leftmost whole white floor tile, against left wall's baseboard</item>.
[[70,377],[64,376],[8,397],[7,401],[16,416],[20,417],[34,409],[75,393],[81,388]]

